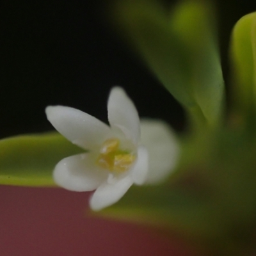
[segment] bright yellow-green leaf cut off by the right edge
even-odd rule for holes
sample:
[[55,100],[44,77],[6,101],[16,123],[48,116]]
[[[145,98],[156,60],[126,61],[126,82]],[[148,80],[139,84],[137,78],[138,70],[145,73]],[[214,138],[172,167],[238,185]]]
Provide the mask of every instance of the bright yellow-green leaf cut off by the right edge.
[[255,119],[255,56],[256,54],[256,13],[242,17],[232,33],[230,57],[232,60],[232,90],[235,111]]

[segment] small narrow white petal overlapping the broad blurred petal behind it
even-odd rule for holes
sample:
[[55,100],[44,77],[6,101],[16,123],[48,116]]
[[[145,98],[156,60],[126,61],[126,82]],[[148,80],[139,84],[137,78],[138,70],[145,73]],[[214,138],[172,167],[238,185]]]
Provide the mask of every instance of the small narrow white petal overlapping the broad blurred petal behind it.
[[132,179],[135,184],[141,185],[148,175],[148,151],[145,147],[138,147],[138,159],[131,170]]

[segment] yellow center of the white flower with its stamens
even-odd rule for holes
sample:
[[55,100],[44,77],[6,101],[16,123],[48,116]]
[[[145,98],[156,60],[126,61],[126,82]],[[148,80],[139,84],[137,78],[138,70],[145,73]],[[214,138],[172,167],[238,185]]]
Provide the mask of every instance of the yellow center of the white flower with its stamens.
[[100,148],[100,155],[97,164],[110,172],[125,172],[134,163],[136,157],[127,150],[119,148],[120,141],[116,138],[104,141]]

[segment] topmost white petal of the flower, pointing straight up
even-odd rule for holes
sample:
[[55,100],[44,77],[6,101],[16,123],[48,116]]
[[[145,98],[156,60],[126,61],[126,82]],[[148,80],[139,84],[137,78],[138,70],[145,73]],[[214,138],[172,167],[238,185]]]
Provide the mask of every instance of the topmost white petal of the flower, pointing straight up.
[[114,87],[108,99],[108,120],[113,129],[121,130],[136,145],[140,138],[140,118],[131,99],[120,87]]

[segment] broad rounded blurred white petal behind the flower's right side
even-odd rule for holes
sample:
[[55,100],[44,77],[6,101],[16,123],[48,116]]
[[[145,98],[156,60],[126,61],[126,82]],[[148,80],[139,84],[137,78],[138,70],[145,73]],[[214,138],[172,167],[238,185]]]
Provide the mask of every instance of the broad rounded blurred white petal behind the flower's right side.
[[172,172],[179,157],[179,143],[172,129],[160,120],[141,120],[141,142],[148,150],[146,183],[161,182]]

